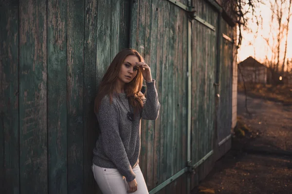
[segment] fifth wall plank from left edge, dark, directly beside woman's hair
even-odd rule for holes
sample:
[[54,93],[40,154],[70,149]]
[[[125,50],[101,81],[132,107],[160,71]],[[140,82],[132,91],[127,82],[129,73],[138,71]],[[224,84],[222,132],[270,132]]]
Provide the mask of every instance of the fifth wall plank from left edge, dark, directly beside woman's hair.
[[[84,193],[96,193],[98,190],[94,180],[92,165],[92,148],[97,140],[97,124],[94,114],[94,98],[96,94],[96,52],[97,52],[97,0],[85,1],[84,32],[84,88],[83,88],[83,160],[84,160]],[[101,193],[100,191],[98,191]]]

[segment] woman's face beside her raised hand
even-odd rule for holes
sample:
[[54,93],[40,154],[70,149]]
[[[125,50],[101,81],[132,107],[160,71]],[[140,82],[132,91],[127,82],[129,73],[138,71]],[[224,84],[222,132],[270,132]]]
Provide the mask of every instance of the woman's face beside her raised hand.
[[122,83],[129,83],[132,81],[138,72],[139,67],[135,64],[137,62],[139,62],[138,57],[135,55],[128,55],[121,65],[118,80]]

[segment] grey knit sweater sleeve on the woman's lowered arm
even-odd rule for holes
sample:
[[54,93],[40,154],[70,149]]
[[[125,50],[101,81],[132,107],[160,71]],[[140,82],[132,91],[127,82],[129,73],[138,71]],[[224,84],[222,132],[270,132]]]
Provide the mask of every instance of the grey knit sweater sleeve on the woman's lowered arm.
[[97,119],[106,155],[128,182],[134,180],[136,175],[119,133],[119,111],[114,101],[110,104],[109,97],[104,97],[101,101]]

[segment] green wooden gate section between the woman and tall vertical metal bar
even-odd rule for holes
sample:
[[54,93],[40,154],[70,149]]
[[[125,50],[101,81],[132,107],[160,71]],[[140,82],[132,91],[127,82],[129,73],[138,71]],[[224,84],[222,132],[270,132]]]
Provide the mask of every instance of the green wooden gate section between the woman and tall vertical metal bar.
[[[186,165],[187,33],[185,11],[166,0],[132,3],[130,47],[151,68],[161,103],[156,121],[143,121],[141,169],[150,191]],[[184,193],[185,178],[160,193]]]

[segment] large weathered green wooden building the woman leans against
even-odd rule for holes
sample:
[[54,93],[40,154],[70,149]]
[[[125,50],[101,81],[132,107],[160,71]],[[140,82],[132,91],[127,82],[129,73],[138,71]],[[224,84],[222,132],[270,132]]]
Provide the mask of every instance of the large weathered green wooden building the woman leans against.
[[236,124],[236,25],[222,7],[221,0],[1,1],[0,193],[101,194],[91,172],[93,100],[124,48],[150,65],[161,102],[159,118],[142,122],[148,190],[189,193],[230,149]]

